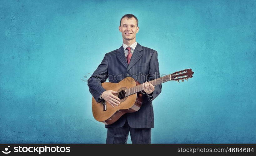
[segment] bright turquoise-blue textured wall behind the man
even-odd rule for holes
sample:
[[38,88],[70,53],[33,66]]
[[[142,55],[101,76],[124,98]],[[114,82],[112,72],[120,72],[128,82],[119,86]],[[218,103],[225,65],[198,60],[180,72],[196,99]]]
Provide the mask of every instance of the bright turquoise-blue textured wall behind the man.
[[195,72],[163,84],[152,143],[256,143],[253,0],[1,0],[0,143],[105,143],[83,80],[121,46],[127,13],[160,74]]

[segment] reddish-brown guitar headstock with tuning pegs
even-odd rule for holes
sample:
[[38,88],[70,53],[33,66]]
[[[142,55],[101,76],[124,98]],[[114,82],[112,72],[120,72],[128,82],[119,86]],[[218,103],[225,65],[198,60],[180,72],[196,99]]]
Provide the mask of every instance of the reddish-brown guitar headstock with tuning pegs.
[[181,80],[183,82],[184,80],[188,80],[189,78],[192,78],[193,74],[194,72],[192,71],[192,69],[185,69],[185,70],[176,71],[170,74],[170,79],[178,82],[179,80]]

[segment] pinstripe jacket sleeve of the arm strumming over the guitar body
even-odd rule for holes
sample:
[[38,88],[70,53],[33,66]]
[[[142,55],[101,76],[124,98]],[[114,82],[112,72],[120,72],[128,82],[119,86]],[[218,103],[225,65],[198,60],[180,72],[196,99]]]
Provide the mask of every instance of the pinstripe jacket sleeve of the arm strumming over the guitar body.
[[97,103],[103,100],[100,98],[100,95],[106,90],[102,87],[101,83],[106,82],[107,78],[108,60],[107,55],[105,54],[96,71],[94,71],[93,75],[88,79],[89,91],[93,95]]

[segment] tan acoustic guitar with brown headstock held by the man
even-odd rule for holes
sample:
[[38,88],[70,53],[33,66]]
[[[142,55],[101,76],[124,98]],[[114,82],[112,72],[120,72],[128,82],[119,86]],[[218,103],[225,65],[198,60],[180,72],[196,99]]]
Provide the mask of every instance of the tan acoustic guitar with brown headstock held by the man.
[[[185,69],[183,71],[177,71],[173,74],[169,74],[158,79],[149,81],[152,85],[160,85],[167,81],[184,81],[192,78],[193,71],[191,69]],[[118,93],[114,94],[121,101],[116,107],[112,107],[107,104],[105,100],[97,103],[92,98],[93,117],[104,124],[113,124],[125,113],[133,113],[140,109],[143,102],[143,86],[132,77],[126,77],[118,83],[103,82],[102,87],[105,90],[114,90]]]

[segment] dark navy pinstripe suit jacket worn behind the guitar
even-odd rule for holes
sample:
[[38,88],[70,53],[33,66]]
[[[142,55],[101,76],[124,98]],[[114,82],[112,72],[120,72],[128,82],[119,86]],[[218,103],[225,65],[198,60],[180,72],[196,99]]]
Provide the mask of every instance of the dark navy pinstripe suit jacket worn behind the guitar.
[[[109,82],[118,83],[127,76],[133,77],[141,84],[159,78],[157,51],[137,44],[129,65],[125,58],[123,46],[106,53],[96,71],[88,79],[89,91],[99,102],[101,93],[105,91],[101,83],[105,82],[107,78]],[[105,127],[122,127],[127,119],[132,128],[153,128],[152,101],[161,93],[161,90],[162,85],[155,86],[152,97],[147,94],[143,95],[143,104],[137,112],[127,113],[115,123],[105,125]]]

